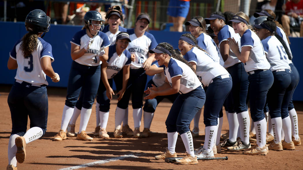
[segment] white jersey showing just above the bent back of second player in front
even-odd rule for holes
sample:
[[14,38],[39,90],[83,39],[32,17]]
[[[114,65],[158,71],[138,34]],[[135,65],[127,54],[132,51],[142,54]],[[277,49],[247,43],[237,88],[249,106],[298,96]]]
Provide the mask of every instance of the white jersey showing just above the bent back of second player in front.
[[212,59],[220,63],[222,66],[224,65],[220,50],[217,47],[215,41],[209,35],[202,33],[197,38],[197,41],[198,46],[205,50],[211,56]]

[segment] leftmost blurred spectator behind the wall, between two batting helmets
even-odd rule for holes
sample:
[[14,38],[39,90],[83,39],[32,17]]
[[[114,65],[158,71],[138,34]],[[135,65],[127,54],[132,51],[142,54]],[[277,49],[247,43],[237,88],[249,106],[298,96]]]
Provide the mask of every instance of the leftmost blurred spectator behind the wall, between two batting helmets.
[[69,2],[54,2],[55,21],[66,24]]

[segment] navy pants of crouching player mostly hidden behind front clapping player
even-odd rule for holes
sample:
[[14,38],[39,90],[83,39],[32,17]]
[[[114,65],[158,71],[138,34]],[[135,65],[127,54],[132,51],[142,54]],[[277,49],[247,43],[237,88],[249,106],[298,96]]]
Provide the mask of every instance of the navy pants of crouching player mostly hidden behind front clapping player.
[[[147,87],[152,87],[151,84],[154,84],[154,82],[152,80],[150,80],[148,82]],[[167,96],[156,96],[153,99],[147,99],[147,100],[145,100],[143,110],[145,112],[154,113],[156,110],[156,107],[163,99],[167,98],[169,101],[171,101],[171,103],[174,103],[174,101],[176,100],[176,98],[178,96],[179,96],[179,93],[176,93],[176,94],[171,94],[171,95],[167,95]]]

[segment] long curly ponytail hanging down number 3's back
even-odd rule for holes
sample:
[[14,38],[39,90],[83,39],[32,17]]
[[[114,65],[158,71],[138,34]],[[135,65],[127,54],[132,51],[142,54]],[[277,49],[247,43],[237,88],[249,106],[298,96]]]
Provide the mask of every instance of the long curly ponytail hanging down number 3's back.
[[31,55],[32,52],[38,47],[38,35],[28,32],[22,37],[20,47],[24,57]]

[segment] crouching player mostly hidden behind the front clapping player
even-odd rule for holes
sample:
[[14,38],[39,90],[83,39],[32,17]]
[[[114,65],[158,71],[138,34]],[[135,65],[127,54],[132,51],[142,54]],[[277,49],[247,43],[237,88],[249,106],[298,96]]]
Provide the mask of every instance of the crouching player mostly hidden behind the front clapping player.
[[[162,67],[159,66],[158,62],[151,65],[146,70],[146,74],[149,76],[154,76],[148,83],[147,87],[152,87],[153,85],[155,87],[160,87],[163,83],[165,83],[165,74]],[[156,110],[156,107],[158,104],[164,99],[167,98],[171,103],[174,103],[176,98],[178,97],[179,93],[167,95],[167,96],[156,96],[153,99],[146,99],[143,107],[143,121],[144,121],[144,130],[141,133],[143,138],[150,136],[150,126],[151,121],[154,117],[154,112]]]

